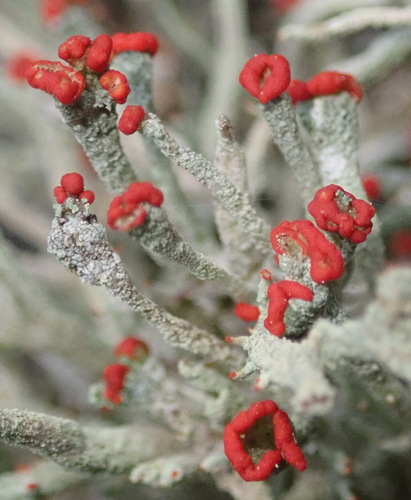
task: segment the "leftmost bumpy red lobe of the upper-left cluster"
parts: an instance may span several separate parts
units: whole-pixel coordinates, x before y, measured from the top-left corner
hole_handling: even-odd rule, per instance
[[[27,68],[26,78],[33,88],[53,95],[65,105],[77,101],[86,87],[81,73],[53,61],[36,61]]]

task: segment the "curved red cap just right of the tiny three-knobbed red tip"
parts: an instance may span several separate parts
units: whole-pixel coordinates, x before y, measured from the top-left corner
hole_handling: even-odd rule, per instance
[[[142,203],[159,207],[163,201],[163,193],[150,182],[133,182],[127,191],[111,201],[107,224],[118,231],[130,231],[146,220],[147,212]]]

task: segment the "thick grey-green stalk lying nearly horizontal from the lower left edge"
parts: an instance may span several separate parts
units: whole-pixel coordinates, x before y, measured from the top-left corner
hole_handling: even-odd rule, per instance
[[[150,445],[143,441],[150,434]],[[168,447],[178,449],[172,434],[155,427],[82,427],[73,420],[25,410],[0,410],[5,442],[50,458],[68,469],[122,474]]]

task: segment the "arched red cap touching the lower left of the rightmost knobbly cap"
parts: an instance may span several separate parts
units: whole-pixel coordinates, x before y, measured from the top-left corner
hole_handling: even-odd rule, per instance
[[[309,257],[316,283],[336,280],[344,272],[341,252],[308,220],[283,221],[271,231],[270,239],[279,255]]]

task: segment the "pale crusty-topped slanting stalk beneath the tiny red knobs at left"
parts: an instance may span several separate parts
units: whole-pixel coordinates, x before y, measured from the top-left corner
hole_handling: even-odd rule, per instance
[[[216,336],[164,311],[135,288],[106,230],[82,202],[58,206],[48,251],[82,281],[104,286],[108,293],[140,313],[172,346],[213,360],[233,358],[232,349]]]

